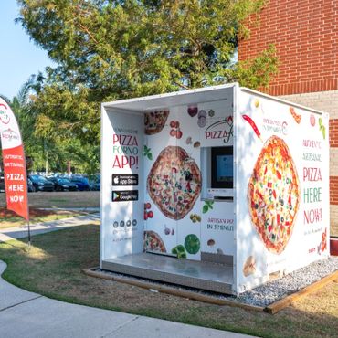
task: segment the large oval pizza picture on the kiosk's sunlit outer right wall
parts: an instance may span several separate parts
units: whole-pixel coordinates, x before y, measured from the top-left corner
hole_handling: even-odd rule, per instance
[[[280,254],[292,235],[300,205],[300,182],[287,144],[277,136],[264,144],[248,183],[248,209],[265,247]]]

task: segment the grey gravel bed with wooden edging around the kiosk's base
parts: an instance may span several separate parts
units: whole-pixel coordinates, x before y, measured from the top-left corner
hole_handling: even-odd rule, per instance
[[[308,265],[305,268],[298,269],[290,274],[280,278],[279,280],[269,281],[264,285],[261,285],[253,290],[243,292],[239,297],[220,294],[216,292],[197,290],[193,288],[187,288],[183,286],[168,284],[159,282],[156,280],[145,280],[138,277],[126,276],[120,273],[115,273],[107,270],[94,269],[97,272],[105,273],[111,277],[124,278],[128,280],[138,280],[143,282],[149,282],[151,284],[165,286],[175,290],[188,290],[198,294],[206,295],[209,297],[217,298],[220,300],[237,301],[244,304],[266,307],[269,304],[279,301],[280,299],[304,289],[308,285],[311,285],[317,280],[321,280],[323,277],[330,275],[338,269],[338,257],[331,256],[329,259],[323,259]],[[151,291],[155,291],[149,287]]]

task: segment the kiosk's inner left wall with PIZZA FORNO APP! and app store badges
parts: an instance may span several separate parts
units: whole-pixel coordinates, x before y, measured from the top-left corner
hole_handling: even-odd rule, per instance
[[[143,115],[102,114],[101,261],[143,251]]]

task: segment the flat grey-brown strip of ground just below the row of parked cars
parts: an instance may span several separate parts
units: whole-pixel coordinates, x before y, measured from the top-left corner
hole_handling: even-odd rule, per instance
[[[100,191],[28,193],[30,207],[100,207]],[[5,206],[5,194],[0,193],[0,207]]]

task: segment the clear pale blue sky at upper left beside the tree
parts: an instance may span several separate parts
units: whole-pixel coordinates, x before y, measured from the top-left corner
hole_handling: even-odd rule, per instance
[[[21,25],[15,24],[19,14],[16,0],[1,0],[0,10],[0,94],[12,100],[31,74],[53,63],[47,52],[30,40]]]

